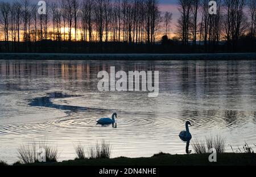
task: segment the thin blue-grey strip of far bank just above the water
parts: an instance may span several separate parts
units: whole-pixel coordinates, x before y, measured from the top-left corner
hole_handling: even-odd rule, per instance
[[[192,54],[75,54],[75,53],[0,53],[0,60],[256,60],[256,53]]]

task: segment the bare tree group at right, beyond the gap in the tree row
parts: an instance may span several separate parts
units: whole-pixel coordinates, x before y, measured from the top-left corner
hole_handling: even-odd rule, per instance
[[[179,0],[177,36],[183,44],[216,48],[225,41],[237,49],[245,37],[255,45],[256,0],[216,0],[217,14],[209,14],[208,0]],[[255,48],[254,48],[255,49]]]

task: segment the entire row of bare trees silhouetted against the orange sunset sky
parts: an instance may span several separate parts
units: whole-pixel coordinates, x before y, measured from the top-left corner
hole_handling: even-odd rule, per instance
[[[47,2],[46,14],[39,14],[29,0],[0,2],[0,51],[99,52],[122,46],[124,51],[175,52],[182,45],[206,52],[237,50],[244,43],[254,50],[256,0],[216,2],[217,14],[210,15],[208,0],[177,0],[180,18],[172,25],[172,39],[172,13],[161,12],[157,0],[59,0]],[[161,47],[156,45],[159,36]]]

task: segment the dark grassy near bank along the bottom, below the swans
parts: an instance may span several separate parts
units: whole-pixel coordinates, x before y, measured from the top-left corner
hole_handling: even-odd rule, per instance
[[[256,165],[256,154],[217,154],[217,162],[208,161],[209,154],[155,154],[149,158],[76,159],[56,163],[34,163],[49,166],[183,166],[183,165]]]

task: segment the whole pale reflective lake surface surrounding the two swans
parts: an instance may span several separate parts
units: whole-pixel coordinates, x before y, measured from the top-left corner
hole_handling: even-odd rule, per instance
[[[98,91],[98,71],[110,66],[159,71],[159,96]],[[256,61],[0,60],[0,81],[0,159],[9,163],[20,145],[40,141],[57,146],[60,161],[97,140],[110,142],[112,157],[184,154],[187,120],[192,140],[218,133],[234,149],[256,143]],[[96,125],[113,112],[117,128]]]

